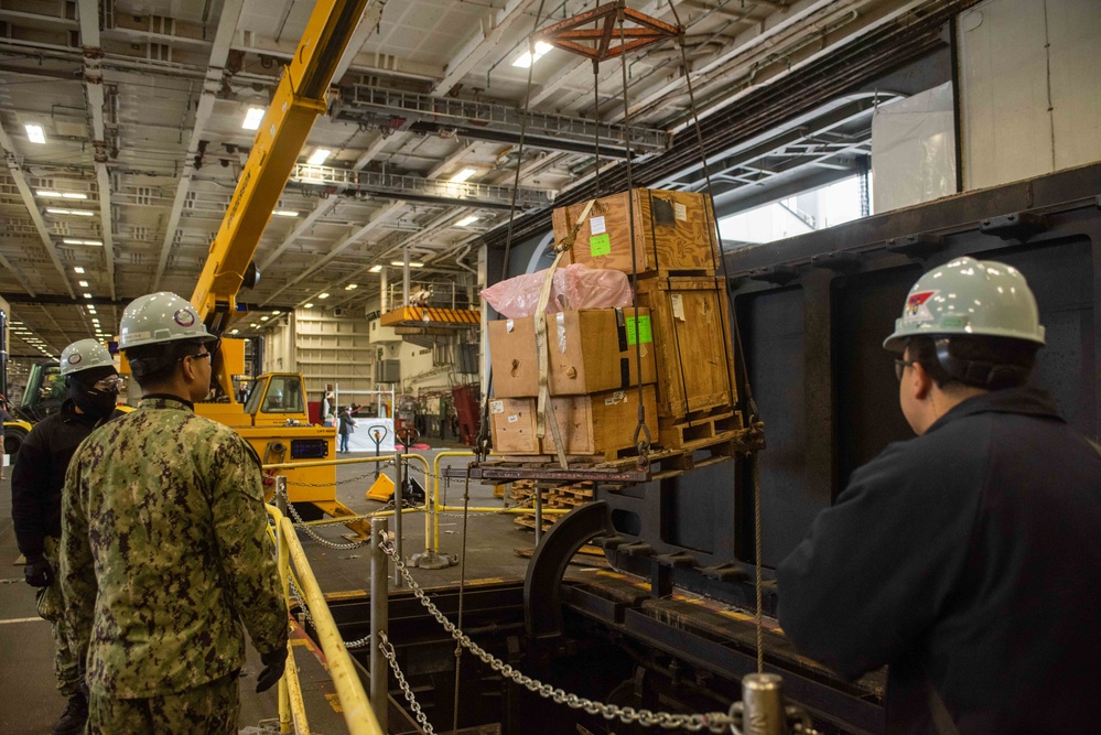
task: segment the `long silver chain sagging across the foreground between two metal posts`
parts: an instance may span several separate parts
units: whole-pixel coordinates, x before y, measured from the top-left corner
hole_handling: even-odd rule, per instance
[[[594,702],[593,700],[578,696],[576,694],[566,693],[565,690],[555,689],[550,684],[544,684],[538,679],[532,679],[526,674],[520,673],[511,667],[511,664],[505,663],[498,658],[495,658],[492,653],[484,650],[477,644],[475,644],[471,638],[460,630],[446,616],[440,612],[440,609],[428,598],[428,595],[421,590],[420,585],[413,580],[409,570],[406,568],[404,562],[398,556],[398,552],[393,544],[390,543],[385,537],[378,541],[379,549],[381,549],[387,556],[397,565],[398,570],[401,572],[401,576],[404,577],[406,584],[412,591],[413,595],[421,602],[421,605],[436,619],[444,630],[446,630],[451,637],[462,645],[464,648],[474,653],[483,663],[486,663],[494,671],[500,673],[512,682],[526,688],[530,692],[535,692],[544,699],[553,701],[555,704],[565,704],[572,710],[583,710],[587,714],[601,715],[605,720],[619,720],[625,724],[638,723],[644,727],[663,727],[666,729],[688,729],[693,733],[706,729],[712,733],[726,733],[730,732],[731,725],[734,724],[734,718],[724,712],[709,712],[706,714],[672,714],[670,712],[651,712],[650,710],[636,710],[635,707],[620,707],[616,704],[604,704],[602,702]]]

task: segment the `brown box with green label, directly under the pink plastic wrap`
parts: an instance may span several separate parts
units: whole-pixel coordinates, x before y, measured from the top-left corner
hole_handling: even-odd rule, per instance
[[[636,315],[637,311],[637,315]],[[638,328],[635,328],[636,316]],[[647,309],[582,309],[547,315],[551,396],[581,396],[656,380],[652,329]],[[635,345],[636,337],[640,342]],[[494,398],[539,393],[533,316],[489,323]],[[638,357],[641,356],[641,372]]]

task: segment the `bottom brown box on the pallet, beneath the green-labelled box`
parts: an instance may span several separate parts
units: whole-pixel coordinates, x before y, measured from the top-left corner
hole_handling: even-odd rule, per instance
[[[652,436],[657,435],[657,403],[654,386],[643,387],[643,406]],[[509,455],[553,455],[557,453],[550,415],[559,422],[563,452],[572,456],[614,455],[635,445],[638,423],[638,387],[592,396],[561,396],[550,399],[546,434],[536,437],[535,398],[498,398],[489,401],[494,452]]]

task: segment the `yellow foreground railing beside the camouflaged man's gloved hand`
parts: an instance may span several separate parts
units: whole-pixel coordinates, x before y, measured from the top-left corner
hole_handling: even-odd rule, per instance
[[[325,603],[325,596],[317,585],[317,579],[310,568],[305,551],[294,533],[294,527],[278,508],[273,506],[266,506],[266,508],[276,520],[276,528],[279,530],[276,539],[283,598],[290,605],[290,574],[293,563],[296,572],[295,579],[302,595],[305,597],[306,606],[310,608],[310,615],[317,634],[317,642],[321,644],[321,649],[325,653],[348,732],[353,735],[385,735],[370,709],[363,682],[359,681],[352,657],[348,655],[347,648],[344,647],[344,640],[336,627],[336,621],[333,620],[333,614]],[[288,647],[287,670],[279,682],[279,731],[281,733],[292,732],[291,726],[293,725],[293,732],[305,734],[310,732],[310,726],[306,722],[302,688],[299,684],[298,671],[294,668],[294,647],[290,644]]]

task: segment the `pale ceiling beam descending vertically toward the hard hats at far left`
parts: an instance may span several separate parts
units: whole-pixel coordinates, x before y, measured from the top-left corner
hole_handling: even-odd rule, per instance
[[[99,226],[107,266],[107,289],[115,298],[115,233],[111,227],[111,179],[107,172],[107,134],[104,125],[104,51],[99,43],[99,0],[79,0],[80,44],[84,46],[84,91],[91,116],[91,144],[95,148],[96,184],[99,188]]]

